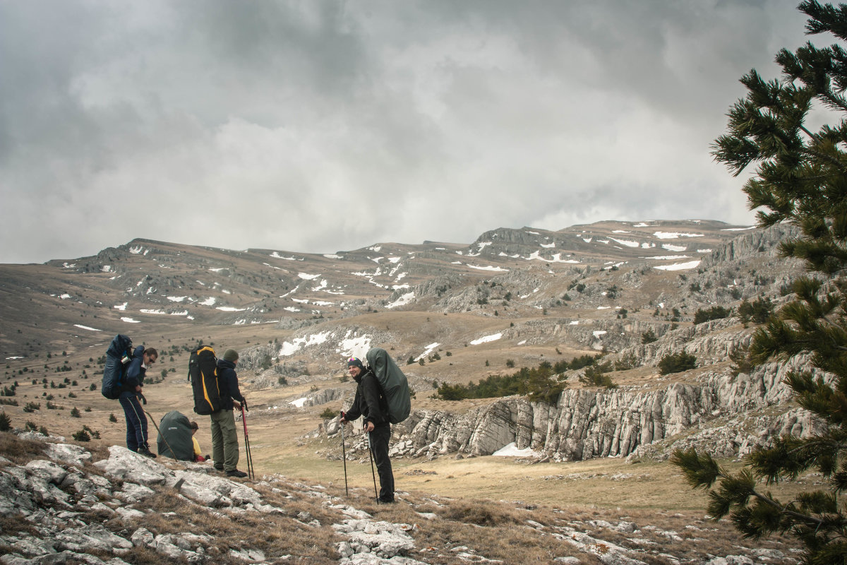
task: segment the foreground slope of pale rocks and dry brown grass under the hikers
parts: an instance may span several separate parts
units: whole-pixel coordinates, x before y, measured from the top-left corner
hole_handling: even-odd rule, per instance
[[[61,438],[0,434],[0,562],[781,565],[784,540],[728,542],[725,525],[677,514],[600,518],[590,509],[360,490],[280,475],[228,479],[204,463],[89,451]],[[8,457],[8,458],[7,458]]]

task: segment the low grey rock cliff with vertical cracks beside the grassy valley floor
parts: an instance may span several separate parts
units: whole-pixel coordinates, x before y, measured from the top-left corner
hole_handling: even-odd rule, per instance
[[[509,397],[461,415],[416,411],[396,426],[396,453],[490,455],[513,442],[555,461],[666,458],[692,445],[721,456],[744,455],[784,433],[805,437],[820,430],[811,414],[791,406],[782,384],[800,364],[770,363],[735,377],[707,373],[699,385],[650,391],[566,390],[555,406]]]

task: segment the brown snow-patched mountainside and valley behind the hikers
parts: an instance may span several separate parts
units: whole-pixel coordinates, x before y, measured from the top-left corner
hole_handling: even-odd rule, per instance
[[[158,347],[161,372],[148,374],[145,386],[154,421],[163,410],[191,414],[185,372],[193,347],[232,347],[241,354],[257,470],[337,484],[335,414],[354,391],[344,359],[379,345],[415,391],[412,417],[391,441],[399,488],[573,501],[585,484],[574,491],[566,478],[579,473],[563,469],[592,457],[600,469],[650,469],[598,472],[590,504],[603,515],[609,507],[631,512],[644,496],[639,482],[652,480],[659,490],[680,481],[674,504],[701,509],[700,495],[684,492],[678,473],[657,463],[668,450],[697,446],[734,458],[817,425],[779,385],[803,359],[738,371],[730,354],[755,327],[731,316],[695,324],[696,313],[715,306],[732,313],[745,300],[789,300],[802,264],[779,258],[777,246],[794,232],[601,224],[563,235],[499,228],[469,245],[382,243],[320,255],[133,240],[76,261],[0,265],[0,410],[19,430],[71,432],[84,423],[97,449],[120,446],[115,404],[97,386],[112,335]],[[662,357],[678,352],[695,356],[695,368],[661,374]],[[433,394],[444,384],[598,355],[616,389],[583,382],[583,368],[556,374],[564,391],[554,403]],[[68,417],[71,407],[80,420]],[[512,443],[534,454],[492,462]],[[352,469],[367,470],[365,446],[358,429],[347,435]],[[370,476],[357,475],[367,490]]]

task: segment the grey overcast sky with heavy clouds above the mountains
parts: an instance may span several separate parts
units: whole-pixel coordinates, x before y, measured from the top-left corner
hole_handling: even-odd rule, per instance
[[[710,144],[797,3],[0,0],[0,263],[750,224]]]

